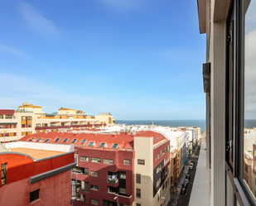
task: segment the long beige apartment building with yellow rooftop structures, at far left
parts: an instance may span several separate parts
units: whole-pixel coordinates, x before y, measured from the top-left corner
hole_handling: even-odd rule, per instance
[[[57,114],[46,114],[41,106],[23,103],[17,110],[0,109],[0,142],[17,141],[37,132],[114,126],[110,113],[87,115],[81,110],[60,108]]]

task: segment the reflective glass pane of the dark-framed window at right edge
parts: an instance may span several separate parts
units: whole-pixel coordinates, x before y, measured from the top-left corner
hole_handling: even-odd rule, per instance
[[[244,167],[256,197],[256,0],[244,0]],[[254,79],[255,78],[255,79]]]

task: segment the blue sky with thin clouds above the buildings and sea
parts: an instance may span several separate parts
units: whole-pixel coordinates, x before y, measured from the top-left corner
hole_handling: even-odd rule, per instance
[[[0,108],[205,118],[196,0],[1,0],[0,27]]]

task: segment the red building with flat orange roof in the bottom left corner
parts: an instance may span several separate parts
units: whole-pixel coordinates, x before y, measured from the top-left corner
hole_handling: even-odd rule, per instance
[[[5,147],[6,146],[6,147]],[[72,145],[0,144],[0,205],[71,205]]]

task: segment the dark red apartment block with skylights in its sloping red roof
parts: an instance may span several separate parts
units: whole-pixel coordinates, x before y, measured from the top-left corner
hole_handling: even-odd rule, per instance
[[[75,205],[118,201],[119,205],[160,206],[170,200],[170,141],[159,132],[41,132],[21,141],[75,145]]]

